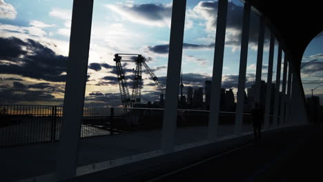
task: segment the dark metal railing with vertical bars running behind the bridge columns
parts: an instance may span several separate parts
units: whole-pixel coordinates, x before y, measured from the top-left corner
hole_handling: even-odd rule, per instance
[[[164,109],[85,107],[80,137],[162,128]],[[177,127],[208,125],[208,110],[178,110]],[[0,147],[59,140],[63,106],[0,105]],[[244,113],[244,123],[251,115]],[[219,124],[235,123],[235,112],[219,112]]]

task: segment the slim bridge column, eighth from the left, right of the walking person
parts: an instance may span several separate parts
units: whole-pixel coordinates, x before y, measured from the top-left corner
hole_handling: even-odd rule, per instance
[[[282,101],[280,101],[280,123],[285,125],[286,110],[286,77],[287,77],[287,54],[284,54],[284,70],[282,79]]]

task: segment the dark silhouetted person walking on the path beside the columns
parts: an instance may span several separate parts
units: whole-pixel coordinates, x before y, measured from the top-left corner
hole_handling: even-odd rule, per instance
[[[259,104],[255,103],[255,108],[251,110],[251,116],[253,117],[253,133],[255,134],[255,143],[260,143],[262,137],[262,110],[259,108]]]

